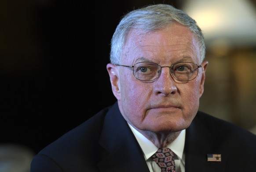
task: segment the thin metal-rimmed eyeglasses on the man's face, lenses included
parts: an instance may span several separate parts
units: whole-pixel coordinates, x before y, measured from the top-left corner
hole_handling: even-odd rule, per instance
[[[125,66],[116,64],[117,66],[122,67],[132,67],[133,75],[140,81],[153,81],[160,76],[162,67],[169,66],[160,66],[157,63],[153,62],[139,62],[134,66]],[[201,65],[197,65],[191,62],[181,62],[175,63],[170,66],[170,74],[178,80],[178,81],[191,81],[197,77],[198,68],[202,67]]]

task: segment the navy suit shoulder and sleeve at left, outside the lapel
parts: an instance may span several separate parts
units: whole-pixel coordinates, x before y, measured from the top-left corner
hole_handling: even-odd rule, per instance
[[[88,154],[95,154],[95,150],[105,152],[99,146],[99,139],[107,116],[112,115],[116,108],[111,106],[102,109],[97,114],[68,131],[48,146],[44,147],[33,160],[33,166],[57,164],[65,169],[73,167],[89,168],[84,162],[91,161]],[[37,167],[35,167],[37,168]],[[67,170],[68,171],[68,170]]]

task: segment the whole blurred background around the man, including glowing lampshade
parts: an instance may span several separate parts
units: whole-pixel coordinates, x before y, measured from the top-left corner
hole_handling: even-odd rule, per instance
[[[163,2],[205,34],[200,110],[256,133],[256,0],[1,0],[0,146],[35,154],[115,102],[106,71],[115,27]]]

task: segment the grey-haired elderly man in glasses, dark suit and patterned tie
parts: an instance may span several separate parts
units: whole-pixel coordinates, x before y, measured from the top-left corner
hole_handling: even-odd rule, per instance
[[[129,12],[106,66],[117,102],[40,151],[31,172],[256,172],[256,136],[198,111],[204,58],[183,11]]]

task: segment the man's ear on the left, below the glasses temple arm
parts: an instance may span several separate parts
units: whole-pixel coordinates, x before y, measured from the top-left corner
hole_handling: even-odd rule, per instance
[[[106,65],[106,69],[110,75],[110,83],[114,96],[119,100],[120,96],[120,85],[119,85],[119,73],[117,70],[117,66],[111,63]]]

